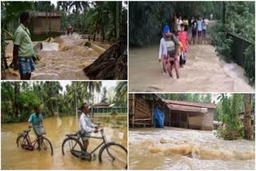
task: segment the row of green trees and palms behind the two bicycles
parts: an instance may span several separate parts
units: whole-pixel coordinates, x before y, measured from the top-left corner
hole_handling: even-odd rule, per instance
[[[2,122],[27,121],[35,105],[40,105],[45,117],[55,114],[74,114],[84,101],[93,105],[102,101],[126,105],[127,84],[118,82],[117,91],[106,96],[109,89],[104,90],[102,82],[72,82],[66,90],[60,82],[2,82],[1,86],[1,118]],[[120,90],[118,90],[120,89]]]

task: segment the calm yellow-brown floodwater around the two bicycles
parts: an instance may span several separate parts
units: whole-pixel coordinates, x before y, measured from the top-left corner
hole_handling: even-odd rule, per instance
[[[126,115],[110,117],[94,117],[95,122],[101,122],[107,141],[115,141],[127,149],[127,120]],[[1,158],[2,169],[120,169],[111,162],[98,161],[98,150],[96,160],[84,161],[70,155],[62,155],[62,141],[68,133],[76,133],[78,118],[75,116],[48,117],[44,119],[46,137],[54,148],[54,155],[51,157],[38,150],[27,151],[16,145],[18,133],[27,128],[27,123],[2,124],[1,131]],[[33,131],[32,131],[33,132]],[[30,133],[34,140],[34,133]],[[100,133],[93,133],[100,136]],[[94,149],[102,140],[90,139],[88,151]]]

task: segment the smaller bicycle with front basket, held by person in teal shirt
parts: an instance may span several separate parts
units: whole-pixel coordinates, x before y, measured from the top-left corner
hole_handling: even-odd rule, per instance
[[[18,133],[18,137],[16,140],[17,147],[20,146],[22,149],[26,149],[30,151],[33,151],[34,149],[36,149],[35,147],[38,147],[37,149],[39,151],[42,150],[43,152],[46,152],[46,153],[48,152],[52,156],[54,153],[54,150],[50,141],[42,135],[38,135],[34,141],[31,141],[30,135],[29,135],[30,131],[31,131],[30,129],[26,129],[22,133]]]

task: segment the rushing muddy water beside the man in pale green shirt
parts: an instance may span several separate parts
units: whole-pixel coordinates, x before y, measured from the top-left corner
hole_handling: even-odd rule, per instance
[[[80,35],[62,35],[42,42],[42,50],[38,52],[39,61],[31,75],[32,80],[87,80],[82,71],[86,66],[94,62],[105,49],[90,48],[86,46],[86,39]],[[37,42],[34,42],[36,44]],[[108,45],[105,43],[105,47]],[[109,45],[110,46],[110,45]],[[13,44],[6,48],[8,62],[12,61]],[[5,79],[19,79],[18,72],[5,71]]]

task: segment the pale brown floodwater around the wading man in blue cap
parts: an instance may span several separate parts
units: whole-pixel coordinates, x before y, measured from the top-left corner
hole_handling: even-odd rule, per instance
[[[180,78],[164,75],[158,62],[159,46],[129,51],[129,88],[131,91],[172,92],[254,92],[242,67],[223,62],[214,46],[189,46],[186,66]]]

